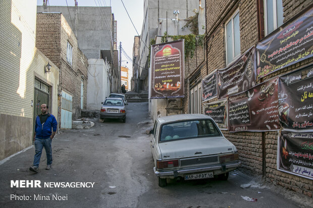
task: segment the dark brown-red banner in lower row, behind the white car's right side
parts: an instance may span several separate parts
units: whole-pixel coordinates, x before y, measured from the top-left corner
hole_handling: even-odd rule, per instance
[[[278,78],[228,98],[228,130],[272,131],[278,120]]]

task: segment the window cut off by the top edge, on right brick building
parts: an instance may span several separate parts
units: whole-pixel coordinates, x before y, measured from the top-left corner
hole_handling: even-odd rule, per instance
[[[264,30],[270,34],[283,24],[283,1],[264,0]]]

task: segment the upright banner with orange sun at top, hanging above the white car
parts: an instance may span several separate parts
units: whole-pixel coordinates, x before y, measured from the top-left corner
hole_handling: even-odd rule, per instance
[[[184,97],[184,40],[151,45],[151,96]]]

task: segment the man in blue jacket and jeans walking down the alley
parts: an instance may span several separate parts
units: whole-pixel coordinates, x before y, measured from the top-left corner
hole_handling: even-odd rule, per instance
[[[46,104],[41,105],[41,114],[36,117],[34,141],[35,141],[35,156],[34,163],[29,170],[38,173],[38,166],[42,149],[44,147],[47,155],[47,166],[46,170],[52,168],[52,139],[54,138],[57,131],[57,119],[54,115],[48,113],[48,106]],[[52,128],[52,131],[51,131]]]

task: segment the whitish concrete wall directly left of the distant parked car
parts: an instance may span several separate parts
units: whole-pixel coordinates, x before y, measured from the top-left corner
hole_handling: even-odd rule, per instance
[[[91,76],[88,77],[87,87],[87,109],[100,110],[106,97],[110,95],[109,63],[103,59],[89,59],[88,71]]]

